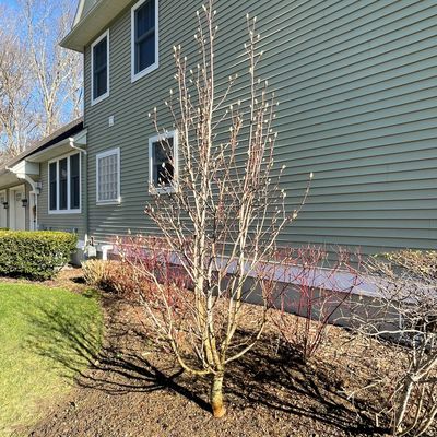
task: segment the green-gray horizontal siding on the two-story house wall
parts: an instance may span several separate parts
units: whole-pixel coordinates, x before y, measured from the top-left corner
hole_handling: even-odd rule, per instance
[[[134,2],[132,2],[134,4]],[[147,114],[174,82],[173,46],[193,54],[201,2],[160,1],[160,68],[135,83],[130,7],[110,24],[110,95],[91,106],[85,50],[90,234],[155,233],[147,203]],[[246,13],[258,16],[260,75],[280,101],[275,160],[293,209],[309,199],[282,244],[362,246],[366,252],[435,248],[437,238],[437,3],[434,0],[248,0],[217,2],[218,82],[246,68]],[[91,44],[92,42],[90,42]],[[236,86],[238,90],[240,85]],[[234,94],[236,96],[237,94]],[[115,126],[108,128],[108,117]],[[97,206],[95,155],[120,147],[119,205]],[[44,180],[44,178],[43,178]]]

